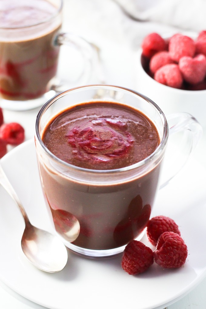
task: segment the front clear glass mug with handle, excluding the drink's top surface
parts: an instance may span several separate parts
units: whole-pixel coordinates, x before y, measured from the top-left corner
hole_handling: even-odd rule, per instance
[[[58,159],[42,141],[44,129],[61,111],[85,102],[115,102],[141,111],[155,125],[159,146],[146,159],[113,170],[86,169]],[[183,163],[201,133],[190,114],[174,114],[170,121],[169,128],[162,110],[144,95],[109,85],[64,91],[41,108],[35,130],[40,178],[49,216],[68,248],[85,256],[105,257],[122,252],[130,240],[142,238],[160,185],[169,132],[190,133]]]

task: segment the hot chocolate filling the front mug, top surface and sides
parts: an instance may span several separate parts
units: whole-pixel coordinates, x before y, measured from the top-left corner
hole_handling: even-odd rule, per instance
[[[68,108],[46,125],[42,140],[59,159],[102,171],[131,166],[160,143],[155,125],[143,113],[113,102]],[[66,230],[75,216],[80,234],[73,244],[81,248],[117,248],[136,238],[149,220],[160,166],[111,184],[75,180],[40,164],[44,196],[57,232]]]

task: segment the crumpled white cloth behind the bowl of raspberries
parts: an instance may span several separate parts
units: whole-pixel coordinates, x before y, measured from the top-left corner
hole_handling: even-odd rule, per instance
[[[132,18],[185,30],[206,30],[206,0],[114,0]]]

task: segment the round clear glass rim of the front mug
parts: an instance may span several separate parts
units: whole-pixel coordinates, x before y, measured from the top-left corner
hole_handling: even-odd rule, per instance
[[[117,168],[117,169],[109,169],[109,170],[94,170],[94,169],[89,169],[89,168],[84,168],[84,167],[78,167],[75,166],[73,164],[67,163],[61,159],[59,159],[57,156],[55,156],[50,150],[48,150],[48,148],[44,145],[41,136],[40,136],[40,132],[39,132],[39,125],[40,125],[40,120],[41,120],[41,116],[44,114],[44,112],[47,110],[47,108],[49,108],[53,103],[55,103],[58,99],[60,99],[61,97],[67,95],[68,93],[72,92],[72,91],[78,91],[80,89],[86,89],[86,88],[116,88],[119,90],[124,90],[124,91],[128,91],[131,92],[139,97],[141,97],[142,99],[145,99],[149,104],[153,105],[156,110],[158,111],[158,115],[161,116],[162,118],[162,124],[163,124],[163,135],[162,135],[162,140],[160,141],[158,147],[153,151],[153,153],[151,155],[149,155],[148,157],[146,157],[145,159],[134,163],[132,165],[126,166],[126,167],[121,167],[121,168]],[[138,91],[126,88],[126,87],[121,87],[121,86],[113,86],[113,85],[106,85],[106,84],[95,84],[95,85],[86,85],[86,86],[80,86],[80,87],[75,87],[66,91],[63,91],[61,93],[58,93],[57,95],[55,95],[53,98],[49,99],[40,109],[40,111],[38,112],[37,116],[36,116],[36,123],[35,123],[35,135],[37,137],[38,142],[40,143],[40,146],[43,148],[43,150],[46,152],[47,155],[49,155],[49,157],[51,157],[53,160],[57,161],[58,163],[61,163],[63,166],[65,167],[69,167],[70,169],[74,169],[77,171],[82,171],[82,172],[87,172],[87,173],[93,173],[93,174],[111,174],[111,173],[117,173],[117,172],[125,172],[125,171],[129,171],[129,170],[133,170],[135,168],[141,167],[143,165],[147,165],[147,163],[150,163],[152,160],[155,160],[162,152],[162,150],[164,149],[164,147],[166,146],[166,142],[168,139],[168,135],[169,135],[169,128],[168,128],[168,123],[166,121],[166,117],[164,115],[164,113],[162,112],[162,109],[159,108],[159,106],[154,103],[151,99],[149,99],[148,97],[146,97],[145,95],[141,94]]]

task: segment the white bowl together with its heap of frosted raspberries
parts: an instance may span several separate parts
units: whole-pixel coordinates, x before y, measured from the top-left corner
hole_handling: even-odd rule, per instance
[[[206,30],[163,37],[150,33],[137,59],[137,91],[167,115],[189,112],[206,125]]]

